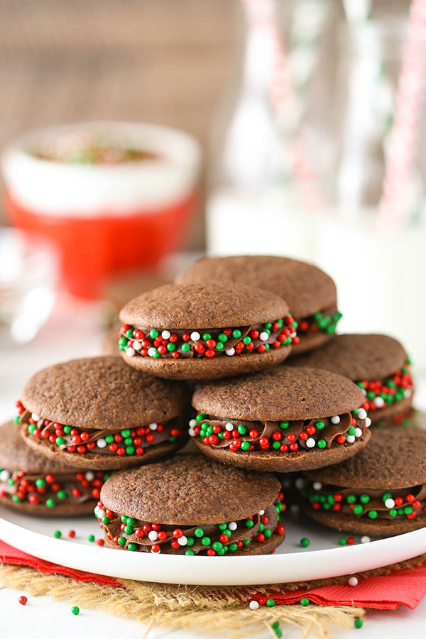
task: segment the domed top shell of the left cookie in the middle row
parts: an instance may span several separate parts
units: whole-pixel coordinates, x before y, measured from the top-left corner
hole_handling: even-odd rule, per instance
[[[72,359],[26,383],[21,401],[45,419],[95,429],[136,428],[182,413],[186,387],[127,366],[121,357]]]

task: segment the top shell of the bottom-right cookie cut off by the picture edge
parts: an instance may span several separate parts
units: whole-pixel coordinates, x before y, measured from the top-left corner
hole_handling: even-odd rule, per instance
[[[309,479],[347,488],[406,488],[426,484],[426,430],[389,426],[342,464],[306,473]]]

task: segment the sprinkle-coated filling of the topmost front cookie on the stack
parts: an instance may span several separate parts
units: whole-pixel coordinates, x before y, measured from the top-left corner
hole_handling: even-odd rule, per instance
[[[298,344],[297,322],[289,314],[273,322],[249,327],[224,329],[162,330],[123,324],[119,348],[126,356],[154,359],[212,358],[235,356],[251,352],[266,353],[269,349]]]

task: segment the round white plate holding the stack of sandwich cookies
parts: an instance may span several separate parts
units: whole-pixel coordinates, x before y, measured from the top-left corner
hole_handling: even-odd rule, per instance
[[[148,552],[119,552],[89,542],[102,531],[94,517],[31,518],[0,508],[0,538],[19,550],[70,568],[167,584],[210,586],[278,584],[336,577],[393,564],[426,552],[426,528],[397,537],[339,545],[339,533],[304,518],[288,516],[285,542],[274,555],[255,557],[173,557]],[[67,536],[68,530],[76,536]],[[62,538],[53,537],[60,530]],[[300,547],[309,537],[310,546]]]

